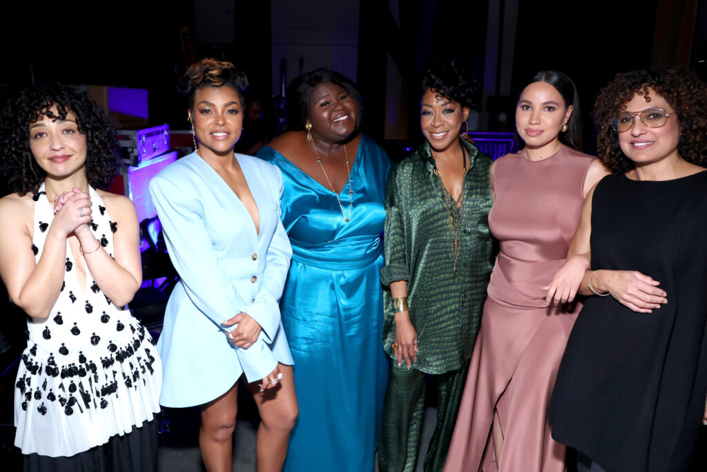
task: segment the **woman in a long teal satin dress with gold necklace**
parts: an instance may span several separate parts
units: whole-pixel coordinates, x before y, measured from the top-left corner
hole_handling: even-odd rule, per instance
[[[289,132],[257,156],[282,171],[292,267],[282,318],[300,415],[286,471],[373,471],[387,362],[380,349],[383,192],[390,160],[361,134],[361,96],[317,69],[288,87]]]

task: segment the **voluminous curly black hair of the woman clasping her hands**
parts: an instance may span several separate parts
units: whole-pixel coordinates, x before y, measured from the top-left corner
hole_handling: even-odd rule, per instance
[[[86,135],[88,183],[110,186],[119,170],[112,120],[86,93],[54,84],[21,89],[0,114],[0,164],[12,192],[35,192],[46,177],[30,151],[30,125],[42,117],[65,120],[67,113],[74,113],[78,132]]]

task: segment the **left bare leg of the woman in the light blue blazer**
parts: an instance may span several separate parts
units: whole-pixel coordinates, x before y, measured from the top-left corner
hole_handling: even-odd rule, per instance
[[[230,472],[233,460],[233,430],[238,413],[238,384],[201,409],[199,447],[209,472]]]

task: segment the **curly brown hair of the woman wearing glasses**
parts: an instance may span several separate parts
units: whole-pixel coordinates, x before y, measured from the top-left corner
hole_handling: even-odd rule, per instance
[[[619,134],[612,128],[612,118],[626,109],[634,96],[650,101],[652,89],[665,98],[680,121],[677,151],[682,159],[706,166],[707,163],[707,85],[691,71],[679,69],[641,69],[617,74],[602,88],[594,104],[597,126],[597,153],[613,172],[634,168],[619,146]]]

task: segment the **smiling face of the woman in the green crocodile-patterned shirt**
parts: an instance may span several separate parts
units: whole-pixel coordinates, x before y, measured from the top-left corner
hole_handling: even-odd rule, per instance
[[[435,151],[445,151],[459,141],[462,123],[469,117],[469,107],[450,100],[430,88],[420,103],[420,127],[427,142]]]

